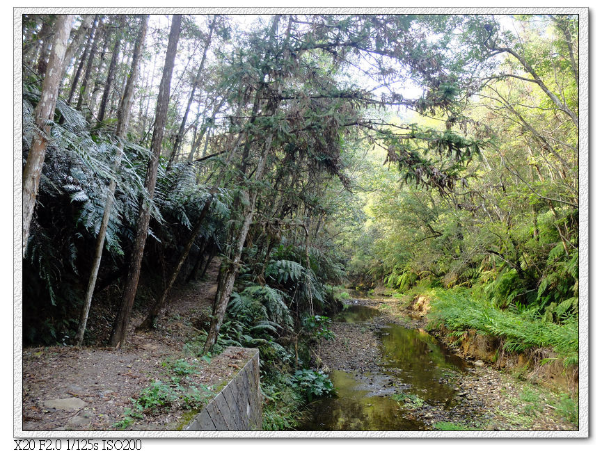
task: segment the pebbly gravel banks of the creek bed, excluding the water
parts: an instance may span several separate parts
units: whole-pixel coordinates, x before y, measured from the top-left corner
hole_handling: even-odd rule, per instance
[[[354,300],[379,309],[367,323],[333,323],[335,341],[322,341],[320,357],[326,370],[373,372],[381,354],[375,331],[396,323],[406,328],[426,328],[425,318],[404,309],[399,300]],[[459,354],[459,350],[454,350]],[[445,383],[456,389],[451,408],[411,408],[410,416],[433,429],[443,430],[576,430],[562,395],[520,380],[468,357],[466,372],[446,374]],[[407,406],[406,406],[407,408]],[[567,419],[569,418],[569,419]]]

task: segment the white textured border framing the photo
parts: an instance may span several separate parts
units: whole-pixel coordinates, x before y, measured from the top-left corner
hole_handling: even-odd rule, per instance
[[[579,15],[579,428],[573,431],[31,431],[22,429],[22,15],[23,14],[573,14]],[[506,8],[13,8],[13,435],[15,438],[587,438],[589,437],[589,10]]]

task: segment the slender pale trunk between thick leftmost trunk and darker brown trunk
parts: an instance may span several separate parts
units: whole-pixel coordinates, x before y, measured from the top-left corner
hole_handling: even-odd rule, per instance
[[[132,111],[132,99],[134,97],[134,88],[136,86],[136,80],[138,79],[138,72],[140,72],[140,61],[142,51],[144,47],[144,40],[146,38],[146,31],[148,29],[148,15],[142,17],[142,23],[140,31],[138,32],[138,38],[136,38],[136,45],[134,46],[134,55],[132,56],[132,70],[129,73],[125,90],[123,91],[123,97],[119,104],[117,111],[117,131],[116,138],[119,140],[118,154],[116,161],[113,163],[113,170],[117,171],[121,166],[121,157],[123,150],[123,140],[127,132],[127,126],[129,124],[129,118]],[[106,236],[106,228],[109,225],[109,217],[111,216],[111,208],[113,207],[113,196],[115,195],[115,189],[117,182],[115,179],[111,179],[109,184],[109,193],[106,195],[106,204],[104,205],[104,213],[102,215],[102,223],[100,224],[100,231],[96,239],[96,250],[93,260],[92,271],[90,272],[90,278],[88,279],[88,288],[86,289],[86,296],[84,297],[84,305],[81,308],[81,316],[79,317],[79,328],[77,329],[77,337],[75,339],[76,344],[81,346],[84,341],[84,332],[86,332],[86,323],[88,323],[88,313],[90,312],[90,305],[92,304],[92,296],[94,294],[94,288],[96,286],[96,278],[98,276],[98,269],[100,268],[100,261],[102,259],[102,250],[104,249],[104,238]]]

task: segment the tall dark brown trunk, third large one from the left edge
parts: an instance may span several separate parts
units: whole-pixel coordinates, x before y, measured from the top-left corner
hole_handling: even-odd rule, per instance
[[[155,130],[152,132],[151,156],[146,172],[146,189],[148,196],[152,201],[155,194],[155,185],[157,184],[157,168],[159,166],[159,156],[161,155],[161,142],[163,141],[164,127],[167,119],[167,110],[169,104],[169,89],[171,86],[171,75],[175,63],[175,54],[177,51],[177,41],[180,38],[180,25],[182,15],[173,15],[171,22],[171,31],[169,32],[169,41],[167,45],[167,54],[159,85],[159,97],[157,98],[157,113],[155,115]],[[136,225],[136,239],[134,240],[134,250],[132,251],[132,261],[129,264],[127,281],[123,289],[119,312],[113,326],[113,333],[109,344],[113,347],[122,346],[127,334],[127,325],[129,316],[132,314],[134,306],[134,297],[138,288],[138,279],[140,278],[140,268],[142,265],[142,256],[146,236],[148,235],[148,223],[150,221],[150,205],[142,202],[138,222]]]

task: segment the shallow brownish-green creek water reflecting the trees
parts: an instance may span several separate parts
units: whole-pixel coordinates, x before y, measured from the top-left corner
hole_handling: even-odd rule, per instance
[[[334,320],[364,323],[378,314],[378,309],[350,305]],[[337,396],[313,403],[300,430],[425,430],[425,423],[391,398],[396,393],[418,396],[443,410],[452,405],[455,391],[446,371],[463,371],[464,360],[424,330],[388,323],[375,333],[383,358],[380,372],[331,371]]]

